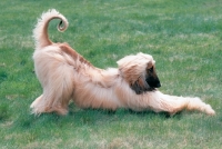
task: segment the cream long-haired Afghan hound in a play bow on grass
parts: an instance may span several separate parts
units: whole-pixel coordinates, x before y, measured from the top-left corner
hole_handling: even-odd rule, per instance
[[[70,101],[80,108],[127,108],[152,110],[171,116],[182,110],[196,110],[213,116],[215,111],[200,98],[176,97],[160,92],[161,87],[152,56],[138,53],[120,59],[118,68],[99,69],[68,43],[54,43],[48,37],[48,26],[59,19],[59,31],[68,20],[57,10],[43,12],[33,30],[34,71],[43,93],[30,106],[32,113],[67,115]]]

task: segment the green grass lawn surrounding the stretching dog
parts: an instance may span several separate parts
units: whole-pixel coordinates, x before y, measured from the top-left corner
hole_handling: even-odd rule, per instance
[[[64,33],[50,23],[53,41],[68,42],[99,68],[137,52],[152,54],[160,90],[198,96],[216,116],[183,111],[82,110],[34,117],[42,92],[33,72],[32,29],[56,8],[69,20]],[[222,147],[222,1],[220,0],[6,0],[0,4],[0,148]]]

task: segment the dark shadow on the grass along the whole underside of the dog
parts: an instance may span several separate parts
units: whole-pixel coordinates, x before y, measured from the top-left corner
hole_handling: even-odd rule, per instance
[[[123,121],[130,122],[133,120],[145,120],[150,119],[181,119],[181,112],[170,116],[168,112],[155,113],[153,111],[133,111],[129,109],[118,109],[117,111],[102,110],[102,109],[81,109],[75,107],[73,103],[69,106],[69,112],[65,116],[59,116],[57,113],[42,113],[40,116],[27,115],[21,117],[14,123],[16,127],[23,129],[31,129],[36,126],[51,126],[64,127],[69,123],[74,123],[75,127],[93,126],[93,125],[109,125],[111,122]]]

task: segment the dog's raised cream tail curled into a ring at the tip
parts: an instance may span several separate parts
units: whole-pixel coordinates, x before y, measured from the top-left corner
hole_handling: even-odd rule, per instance
[[[36,40],[36,49],[41,49],[47,46],[52,44],[52,41],[49,39],[48,36],[48,26],[49,22],[53,19],[60,19],[60,23],[58,24],[57,29],[63,32],[68,26],[68,20],[56,9],[50,9],[48,12],[42,13],[41,18],[38,19],[38,23],[33,30],[33,38]]]

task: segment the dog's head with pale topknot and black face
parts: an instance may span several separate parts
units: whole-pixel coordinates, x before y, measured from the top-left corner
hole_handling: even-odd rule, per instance
[[[138,95],[161,87],[154,64],[152,56],[142,52],[118,61],[121,74]]]

